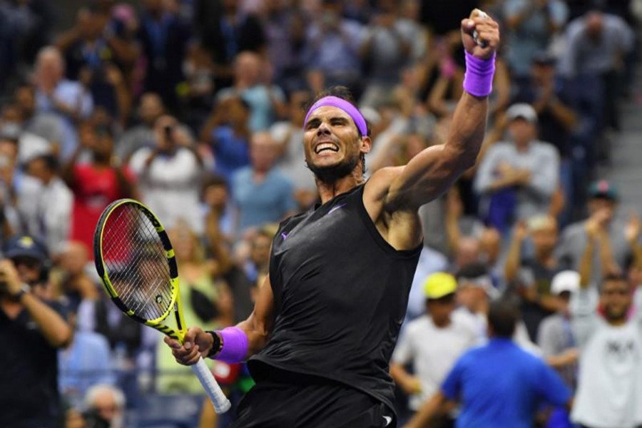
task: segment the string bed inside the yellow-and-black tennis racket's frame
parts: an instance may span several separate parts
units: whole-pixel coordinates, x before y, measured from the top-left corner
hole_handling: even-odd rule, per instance
[[[122,205],[103,231],[103,260],[123,304],[138,317],[156,320],[172,301],[170,273],[163,243],[138,208]]]

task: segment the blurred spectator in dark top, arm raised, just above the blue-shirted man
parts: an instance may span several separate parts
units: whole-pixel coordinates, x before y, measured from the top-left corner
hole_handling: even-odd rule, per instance
[[[551,295],[551,281],[562,270],[555,256],[557,240],[554,218],[548,215],[529,218],[515,225],[506,255],[506,282],[514,286],[522,299],[521,316],[531,340],[537,337],[541,320],[559,309],[559,299]],[[529,243],[532,253],[524,255],[525,244]]]

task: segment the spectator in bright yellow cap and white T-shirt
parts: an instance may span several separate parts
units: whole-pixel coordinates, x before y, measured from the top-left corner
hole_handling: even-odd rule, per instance
[[[451,319],[456,291],[457,280],[448,273],[427,277],[426,313],[407,325],[392,354],[390,374],[410,395],[413,412],[437,392],[459,355],[477,342],[477,332],[470,325]],[[411,363],[413,374],[404,369]]]

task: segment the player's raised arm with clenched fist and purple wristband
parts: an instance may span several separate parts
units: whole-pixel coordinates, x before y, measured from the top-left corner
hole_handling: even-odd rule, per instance
[[[477,31],[485,47],[475,43],[473,31]],[[425,149],[402,167],[389,186],[384,201],[387,210],[416,209],[430,202],[477,160],[486,130],[494,54],[499,46],[498,25],[474,12],[474,18],[462,20],[462,41],[468,71],[447,143]]]

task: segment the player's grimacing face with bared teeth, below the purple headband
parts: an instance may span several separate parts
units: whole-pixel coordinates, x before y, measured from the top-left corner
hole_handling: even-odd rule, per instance
[[[305,161],[325,181],[350,175],[362,153],[370,151],[370,138],[361,138],[348,113],[340,108],[317,108],[305,125]]]

